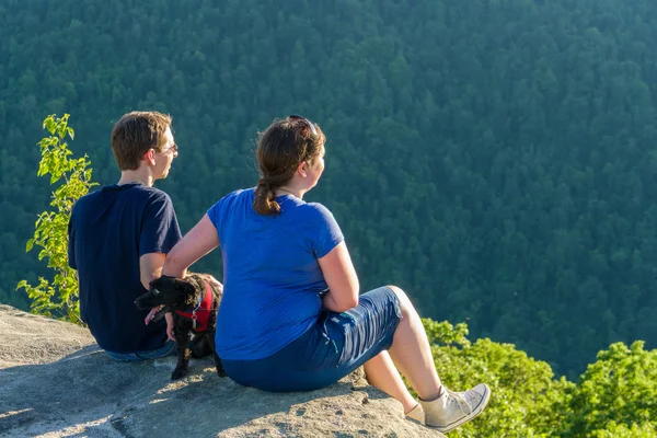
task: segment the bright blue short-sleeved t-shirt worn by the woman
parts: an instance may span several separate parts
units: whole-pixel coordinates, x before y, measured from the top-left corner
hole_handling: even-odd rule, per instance
[[[229,360],[272,356],[316,322],[327,290],[318,258],[344,240],[321,204],[279,196],[281,212],[264,216],[253,196],[237,191],[208,210],[223,258],[217,354]]]

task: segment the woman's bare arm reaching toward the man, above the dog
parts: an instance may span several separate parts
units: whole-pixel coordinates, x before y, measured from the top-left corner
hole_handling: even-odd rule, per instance
[[[206,214],[166,254],[162,275],[184,278],[189,266],[217,246],[219,234]]]

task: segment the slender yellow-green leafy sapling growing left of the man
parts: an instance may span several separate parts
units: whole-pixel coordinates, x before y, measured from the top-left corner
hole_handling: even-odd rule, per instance
[[[78,277],[68,266],[68,222],[76,200],[97,184],[91,182],[91,162],[87,154],[79,159],[69,158],[72,152],[65,140],[67,136],[72,140],[74,132],[68,126],[68,114],[62,117],[49,115],[44,120],[44,129],[50,135],[38,142],[42,159],[37,175],[50,174],[50,185],[62,177],[64,183],[51,195],[50,206],[54,207],[54,211],[38,215],[34,238],[27,241],[25,247],[25,251],[31,251],[34,245],[42,247],[38,260],[47,260],[48,267],[55,270],[55,278],[50,283],[39,277],[37,286],[21,280],[16,290],[25,289],[32,299],[33,313],[81,324]]]

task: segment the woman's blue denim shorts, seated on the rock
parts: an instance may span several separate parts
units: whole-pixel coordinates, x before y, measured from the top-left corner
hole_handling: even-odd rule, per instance
[[[390,348],[402,319],[397,296],[381,287],[364,293],[343,313],[323,311],[312,327],[274,355],[224,360],[235,382],[263,391],[312,391],[335,383]]]

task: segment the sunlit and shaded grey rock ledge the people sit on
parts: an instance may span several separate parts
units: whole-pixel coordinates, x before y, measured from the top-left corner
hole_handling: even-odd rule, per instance
[[[362,371],[273,394],[219,378],[210,359],[172,382],[174,366],[115,362],[85,328],[0,304],[0,437],[442,437]]]

